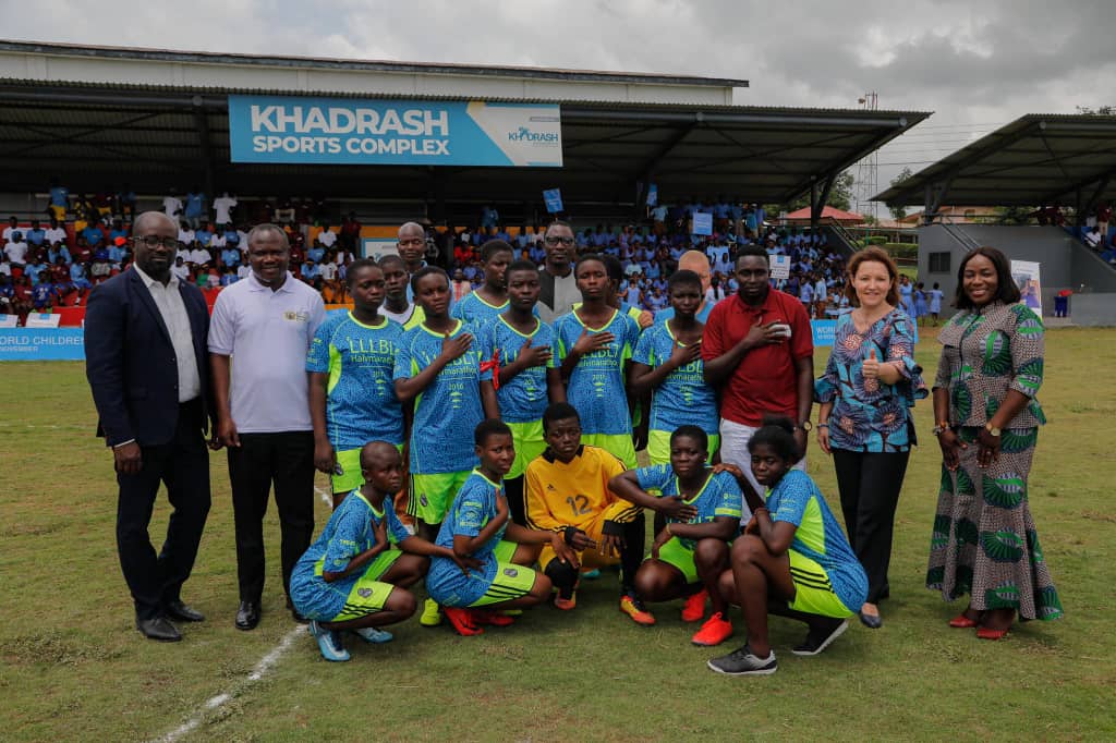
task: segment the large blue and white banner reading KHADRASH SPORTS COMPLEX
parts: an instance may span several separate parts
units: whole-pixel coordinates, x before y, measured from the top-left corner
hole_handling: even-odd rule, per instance
[[[561,167],[556,105],[229,96],[234,163]]]

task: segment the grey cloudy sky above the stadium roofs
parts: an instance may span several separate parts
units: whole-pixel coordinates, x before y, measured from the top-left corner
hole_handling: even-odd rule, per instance
[[[96,11],[94,11],[96,8]],[[1116,104],[1112,0],[0,0],[0,38],[748,79],[738,104],[934,116],[881,190],[1024,113]]]

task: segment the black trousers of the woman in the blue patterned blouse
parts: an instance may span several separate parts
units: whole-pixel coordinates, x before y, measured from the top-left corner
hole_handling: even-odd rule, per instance
[[[868,573],[868,604],[878,604],[891,595],[887,569],[892,562],[895,508],[910,457],[911,452],[834,450],[848,541]]]

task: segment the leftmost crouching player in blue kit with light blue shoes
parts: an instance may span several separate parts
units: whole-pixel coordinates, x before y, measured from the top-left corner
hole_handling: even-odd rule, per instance
[[[415,597],[406,587],[422,579],[431,557],[444,558],[459,572],[479,566],[413,535],[395,515],[391,493],[402,484],[403,462],[394,444],[365,445],[360,469],[365,484],[341,501],[290,577],[291,601],[310,619],[326,660],[349,659],[344,630],[368,643],[391,640],[377,627],[415,612]]]

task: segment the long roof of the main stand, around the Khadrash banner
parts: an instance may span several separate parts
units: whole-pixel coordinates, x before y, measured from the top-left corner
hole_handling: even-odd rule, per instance
[[[145,60],[144,55],[156,60]],[[115,65],[125,65],[127,71]],[[180,70],[176,79],[194,83],[160,85],[153,80],[163,79],[163,74],[151,71],[158,65],[201,65],[212,70],[205,80],[198,78],[201,73],[191,77]],[[252,65],[268,75],[241,74]],[[305,65],[344,66],[356,77],[307,84]],[[374,74],[354,71],[369,65],[377,68]],[[94,71],[86,73],[87,66]],[[289,66],[300,66],[298,74],[289,74]],[[386,67],[393,70],[381,69]],[[276,69],[271,75],[269,70]],[[430,81],[443,74],[453,79]],[[392,87],[401,75],[410,86],[405,93],[398,85]],[[496,85],[489,76],[502,78]],[[549,76],[549,87],[540,91],[531,87],[535,83],[518,79],[522,76]],[[517,79],[508,87],[510,78]],[[724,90],[731,93],[725,86],[741,85],[747,81],[0,41],[0,162],[7,190],[13,191],[41,192],[58,174],[76,192],[127,182],[141,192],[162,193],[172,185],[199,183],[240,194],[535,203],[542,189],[560,186],[567,203],[631,204],[639,203],[637,183],[654,182],[664,200],[724,194],[786,202],[811,186],[824,195],[827,178],[930,115],[712,103],[724,100]],[[641,86],[647,89],[641,93]],[[706,88],[715,95],[702,93]],[[473,90],[478,95],[470,95]],[[500,90],[509,95],[493,95]],[[609,91],[623,99],[600,99]],[[231,163],[227,96],[233,93],[558,103],[564,166]]]

